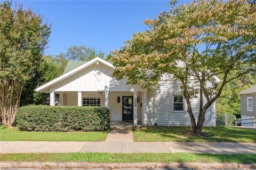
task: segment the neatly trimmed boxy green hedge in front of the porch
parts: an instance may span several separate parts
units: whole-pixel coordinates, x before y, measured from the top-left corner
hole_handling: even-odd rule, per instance
[[[20,107],[16,126],[21,131],[105,131],[108,108],[30,105]]]

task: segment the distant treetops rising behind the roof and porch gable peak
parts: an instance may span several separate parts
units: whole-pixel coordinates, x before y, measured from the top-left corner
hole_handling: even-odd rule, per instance
[[[61,70],[64,71],[68,60],[90,61],[96,58],[97,56],[99,58],[103,58],[104,53],[101,51],[97,52],[95,48],[81,45],[81,46],[71,46],[68,48],[66,53],[60,53],[56,55],[55,58],[58,60]]]

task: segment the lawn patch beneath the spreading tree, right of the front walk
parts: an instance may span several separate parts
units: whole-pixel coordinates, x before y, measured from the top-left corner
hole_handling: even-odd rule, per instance
[[[235,127],[204,127],[209,137],[198,137],[190,127],[142,127],[133,129],[136,142],[256,142],[256,130]]]

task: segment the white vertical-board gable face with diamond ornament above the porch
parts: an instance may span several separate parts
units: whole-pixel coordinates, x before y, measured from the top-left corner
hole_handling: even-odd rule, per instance
[[[100,77],[96,76],[100,71]],[[145,91],[140,85],[127,84],[127,78],[116,80],[111,77],[113,69],[105,64],[93,64],[77,74],[62,80],[51,86],[50,91],[54,92],[70,92],[70,91],[104,91],[106,86],[109,91]]]

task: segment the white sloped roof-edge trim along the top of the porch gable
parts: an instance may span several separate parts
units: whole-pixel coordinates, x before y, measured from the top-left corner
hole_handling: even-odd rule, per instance
[[[103,63],[103,64],[105,64],[106,66],[115,69],[115,67],[113,66],[113,64],[111,64],[110,62],[107,62],[106,60],[103,60],[103,59],[97,57],[97,58],[94,58],[94,59],[92,59],[92,60],[90,60],[90,61],[88,61],[88,62],[85,62],[84,64],[82,64],[82,65],[80,65],[80,66],[78,66],[78,67],[76,67],[76,68],[74,68],[74,69],[71,69],[70,71],[64,73],[64,74],[61,75],[60,77],[57,77],[57,78],[51,80],[50,82],[48,82],[48,83],[46,83],[46,84],[44,84],[44,85],[42,85],[42,86],[36,88],[35,91],[36,91],[36,92],[39,92],[39,91],[41,91],[41,92],[46,92],[46,89],[49,88],[50,86],[52,86],[52,85],[54,85],[54,84],[57,84],[57,83],[60,82],[61,80],[66,79],[67,77],[70,77],[70,76],[76,74],[77,72],[83,70],[84,68],[89,67],[89,66],[91,66],[92,64],[97,63],[97,62]],[[71,68],[71,67],[70,67],[70,68]]]

